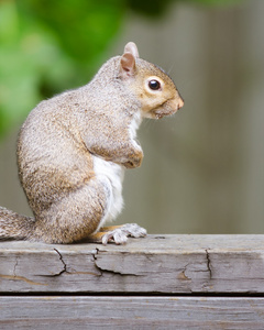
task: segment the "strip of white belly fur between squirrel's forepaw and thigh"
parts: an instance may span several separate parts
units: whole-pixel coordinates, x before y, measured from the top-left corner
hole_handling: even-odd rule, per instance
[[[97,179],[103,183],[108,193],[107,209],[98,226],[99,230],[106,221],[114,220],[123,208],[122,182],[124,168],[121,165],[107,162],[95,155],[92,158]]]

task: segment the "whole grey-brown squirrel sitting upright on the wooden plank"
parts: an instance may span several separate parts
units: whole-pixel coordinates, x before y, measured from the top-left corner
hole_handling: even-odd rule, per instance
[[[91,81],[41,101],[18,138],[19,178],[34,217],[0,207],[0,240],[123,244],[135,223],[106,227],[123,207],[124,168],[141,165],[136,130],[184,106],[175,84],[130,42]]]

